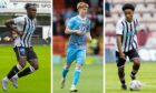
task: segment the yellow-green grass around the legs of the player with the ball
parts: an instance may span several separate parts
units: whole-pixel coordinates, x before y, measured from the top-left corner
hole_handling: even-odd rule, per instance
[[[126,82],[129,85],[131,63],[126,64]],[[123,91],[117,76],[115,63],[106,63],[106,93],[156,93],[156,63],[142,63],[137,79],[143,83],[140,91]]]

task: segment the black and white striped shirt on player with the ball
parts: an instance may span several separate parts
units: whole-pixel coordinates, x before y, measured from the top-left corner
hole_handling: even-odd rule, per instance
[[[123,52],[128,52],[133,49],[137,49],[137,28],[138,28],[138,20],[136,18],[129,23],[126,21],[125,18],[121,18],[116,28],[116,34],[121,35],[121,49]],[[118,48],[117,48],[118,51]]]

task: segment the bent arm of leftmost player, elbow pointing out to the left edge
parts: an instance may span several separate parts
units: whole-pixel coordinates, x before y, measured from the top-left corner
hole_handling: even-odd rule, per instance
[[[18,29],[13,27],[14,22],[12,19],[7,20],[4,24],[8,29],[10,29],[11,32],[16,32],[18,35],[23,34],[22,31],[18,31]]]

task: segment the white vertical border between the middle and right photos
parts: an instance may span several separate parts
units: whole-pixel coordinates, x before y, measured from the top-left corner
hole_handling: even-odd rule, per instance
[[[103,43],[104,43],[104,45],[103,45],[103,93],[105,93],[106,92],[106,89],[105,89],[105,85],[106,85],[106,80],[105,80],[105,78],[106,78],[106,66],[105,66],[105,20],[106,20],[106,17],[105,17],[105,0],[104,0],[104,2],[103,2]]]

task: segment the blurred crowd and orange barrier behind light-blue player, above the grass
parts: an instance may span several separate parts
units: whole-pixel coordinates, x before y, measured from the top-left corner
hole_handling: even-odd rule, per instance
[[[103,0],[53,0],[53,18],[52,18],[52,40],[53,40],[53,63],[59,64],[60,62],[65,63],[66,49],[69,35],[65,34],[65,22],[66,20],[78,14],[77,3],[79,1],[85,1],[89,3],[89,13],[88,18],[91,20],[91,37],[92,41],[88,43],[87,51],[87,64],[92,63],[103,63]]]

